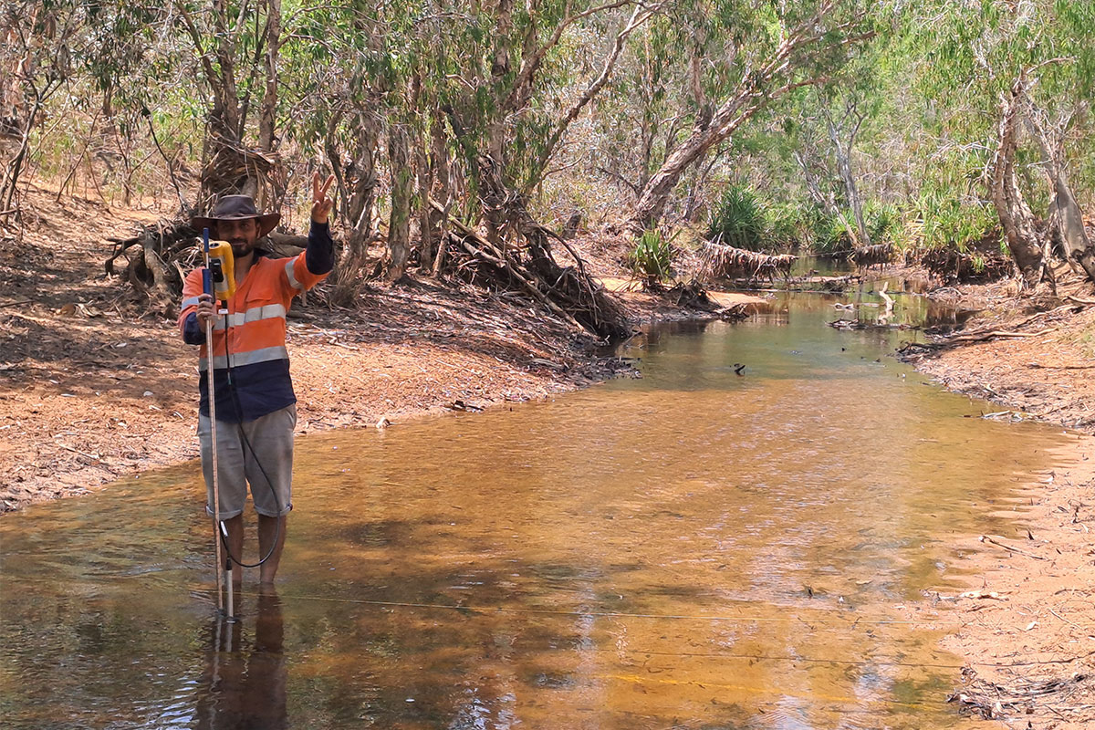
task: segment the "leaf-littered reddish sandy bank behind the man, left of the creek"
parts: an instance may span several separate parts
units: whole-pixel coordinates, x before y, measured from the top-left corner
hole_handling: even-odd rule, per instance
[[[0,239],[0,512],[197,456],[197,348],[103,271],[108,239],[157,217],[62,200],[32,192],[23,240]],[[631,286],[606,251],[590,263],[636,325],[696,315]],[[716,305],[747,301],[763,300],[723,294]],[[370,282],[356,311],[313,296],[295,304],[288,345],[301,434],[631,372],[520,297],[431,280]]]

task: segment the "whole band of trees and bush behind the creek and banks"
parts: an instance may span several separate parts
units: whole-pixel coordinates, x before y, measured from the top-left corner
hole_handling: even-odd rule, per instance
[[[34,178],[155,206],[115,253],[169,312],[189,215],[242,192],[291,232],[320,171],[341,304],[504,280],[612,334],[552,254],[590,232],[652,283],[704,245],[1095,280],[1093,27],[1091,0],[13,0],[0,234]]]

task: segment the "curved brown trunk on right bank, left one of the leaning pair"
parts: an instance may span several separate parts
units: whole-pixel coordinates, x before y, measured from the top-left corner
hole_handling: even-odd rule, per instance
[[[1019,77],[1012,86],[1011,99],[1001,104],[1000,140],[992,161],[992,202],[1000,217],[1007,248],[1023,275],[1023,285],[1034,287],[1041,280],[1042,273],[1040,236],[1015,174],[1018,113],[1026,89],[1026,80]]]

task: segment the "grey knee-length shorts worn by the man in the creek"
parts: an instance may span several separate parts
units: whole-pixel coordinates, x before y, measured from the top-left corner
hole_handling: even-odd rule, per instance
[[[296,426],[296,404],[241,424],[217,421],[220,520],[230,520],[243,512],[249,483],[251,499],[260,514],[278,517],[292,509],[292,431]],[[212,439],[208,416],[198,416],[198,440],[206,479],[206,511],[211,515]]]

